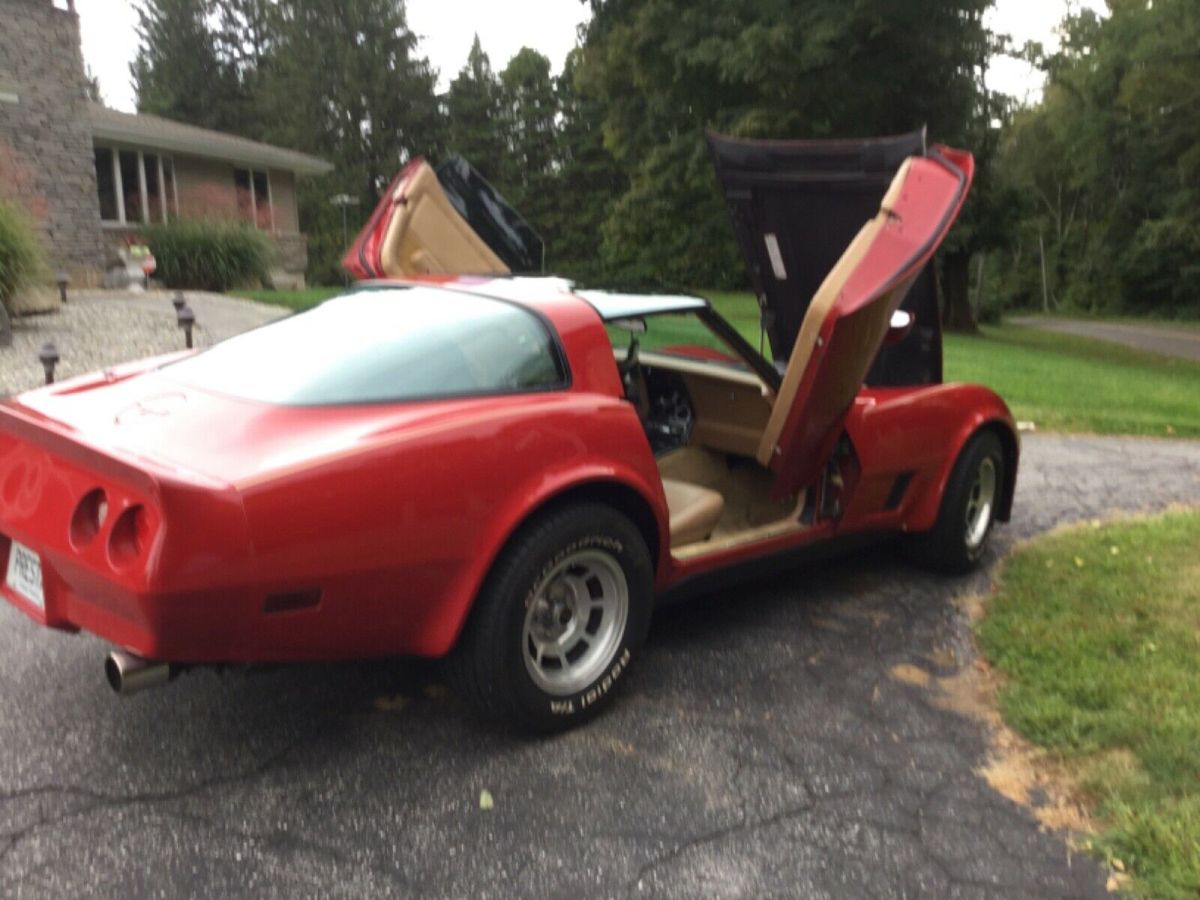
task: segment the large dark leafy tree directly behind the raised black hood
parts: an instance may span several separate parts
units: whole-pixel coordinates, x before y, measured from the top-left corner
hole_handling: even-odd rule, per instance
[[[744,280],[704,128],[869,137],[925,124],[964,138],[982,106],[988,2],[593,0],[581,82],[602,98],[606,145],[630,175],[605,256],[640,277]]]

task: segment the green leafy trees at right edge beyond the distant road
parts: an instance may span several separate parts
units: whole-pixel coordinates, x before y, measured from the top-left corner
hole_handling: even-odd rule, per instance
[[[1063,22],[1042,102],[1006,137],[1003,174],[1030,198],[1020,234],[1044,247],[1049,300],[1200,316],[1200,14],[1188,0],[1110,11]],[[1020,257],[1012,300],[1042,302],[1040,262]]]

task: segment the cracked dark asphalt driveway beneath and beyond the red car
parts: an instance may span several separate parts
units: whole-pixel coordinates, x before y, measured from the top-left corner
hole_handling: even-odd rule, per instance
[[[996,553],[1200,503],[1200,444],[1032,436],[1019,484]],[[1104,896],[976,774],[983,727],[889,677],[970,665],[986,584],[881,548],[668,608],[611,713],[545,740],[419,664],[120,700],[100,641],[2,605],[0,895]]]

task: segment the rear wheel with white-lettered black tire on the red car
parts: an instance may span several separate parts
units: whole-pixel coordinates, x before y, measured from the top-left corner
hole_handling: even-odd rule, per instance
[[[496,560],[448,659],[450,683],[487,718],[572,728],[612,701],[653,600],[654,566],[632,522],[599,503],[552,510]]]

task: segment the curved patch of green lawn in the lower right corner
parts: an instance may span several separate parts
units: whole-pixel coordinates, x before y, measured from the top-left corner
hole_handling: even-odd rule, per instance
[[[1144,896],[1200,896],[1200,511],[1019,550],[978,626],[1000,708],[1061,758]]]

